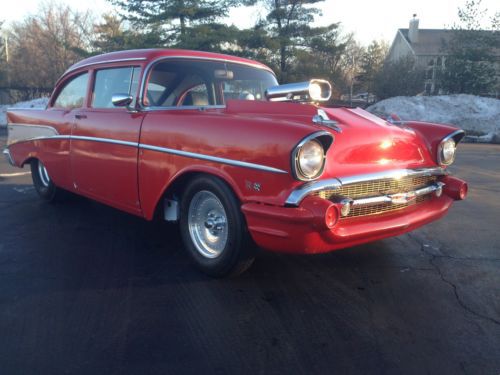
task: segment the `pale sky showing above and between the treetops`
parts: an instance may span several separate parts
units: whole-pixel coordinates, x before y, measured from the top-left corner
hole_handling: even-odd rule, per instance
[[[1,6],[0,20],[19,21],[29,13],[36,12],[40,0],[6,1]],[[110,12],[113,7],[106,0],[61,0],[79,10],[91,9],[96,13]],[[457,21],[457,8],[465,0],[326,0],[321,5],[323,17],[320,24],[341,22],[345,32],[355,32],[358,40],[368,44],[373,39],[392,41],[398,28],[408,27],[413,13],[420,19],[420,27],[441,29]],[[483,7],[493,15],[500,11],[499,0],[482,0]],[[260,13],[259,8],[236,9],[231,13],[229,23],[239,27],[249,27]],[[489,24],[483,25],[488,27]]]

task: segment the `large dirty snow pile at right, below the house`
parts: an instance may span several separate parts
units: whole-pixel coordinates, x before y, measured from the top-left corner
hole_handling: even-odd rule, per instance
[[[482,137],[479,142],[500,141],[500,100],[474,95],[398,96],[367,108],[376,114],[396,114],[402,120],[451,124]]]

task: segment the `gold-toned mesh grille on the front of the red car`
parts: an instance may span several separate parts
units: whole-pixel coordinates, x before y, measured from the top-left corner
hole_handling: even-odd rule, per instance
[[[437,176],[407,176],[400,179],[373,180],[344,185],[336,190],[322,190],[313,193],[313,195],[332,201],[335,201],[337,198],[341,197],[351,199],[369,198],[386,194],[397,194],[415,191],[417,189],[431,185],[432,183],[436,182],[437,179]],[[367,207],[353,207],[349,215],[345,218],[376,215],[396,211],[415,204],[419,204],[428,199],[430,199],[430,195],[420,196],[414,201],[403,204],[382,203]]]

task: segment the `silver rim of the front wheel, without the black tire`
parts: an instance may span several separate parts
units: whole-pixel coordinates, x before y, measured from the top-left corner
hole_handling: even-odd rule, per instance
[[[217,258],[228,240],[227,214],[222,202],[210,191],[197,192],[189,204],[189,235],[198,252]]]

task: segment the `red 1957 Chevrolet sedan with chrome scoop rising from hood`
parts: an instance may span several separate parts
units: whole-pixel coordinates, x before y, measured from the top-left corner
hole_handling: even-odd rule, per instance
[[[134,50],[83,60],[44,110],[8,112],[12,165],[46,201],[66,190],[179,222],[213,276],[261,248],[313,254],[411,231],[464,199],[447,172],[464,132],[326,108],[323,80],[278,86],[238,57]]]

